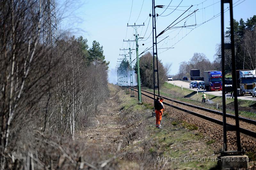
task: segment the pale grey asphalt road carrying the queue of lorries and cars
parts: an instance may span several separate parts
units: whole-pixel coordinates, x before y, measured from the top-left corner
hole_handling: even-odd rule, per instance
[[[179,87],[182,86],[182,88],[189,89],[189,82],[179,81],[179,80],[177,80],[177,81],[166,81],[166,82],[168,82],[170,84],[175,84],[175,86],[179,86]],[[200,82],[200,81],[198,81],[198,82]],[[194,89],[191,88],[190,90],[196,91],[197,89],[196,88],[194,88]],[[201,93],[205,92],[206,94],[211,94],[211,95],[214,95],[214,96],[222,96],[222,91],[211,91],[211,92],[209,92],[209,91],[200,89],[198,91],[198,93],[199,92],[201,92]],[[231,98],[230,93],[227,94],[227,98],[229,98],[229,97]],[[253,101],[256,101],[256,97],[252,97],[251,95],[239,96],[237,98],[238,99],[242,99],[242,100],[253,100]]]

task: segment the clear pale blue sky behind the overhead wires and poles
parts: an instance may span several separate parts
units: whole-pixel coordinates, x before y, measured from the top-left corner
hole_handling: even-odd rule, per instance
[[[139,54],[153,45],[152,17],[149,17],[149,13],[152,14],[151,0],[74,0],[68,4],[64,1],[55,1],[57,8],[63,11],[60,29],[68,29],[76,37],[82,35],[90,47],[93,40],[103,46],[105,59],[110,61],[108,79],[111,83],[117,80],[115,67],[117,58],[122,57],[119,54],[128,54],[128,50],[120,49],[136,48],[135,43],[123,42],[134,40],[134,28],[127,27],[127,23],[145,25],[137,28],[139,37],[144,37],[138,42]],[[210,61],[214,60],[216,45],[221,41],[220,0],[155,0],[155,5],[164,5],[164,8],[156,8],[159,14],[156,17],[157,35],[188,10],[174,22],[180,21],[177,25],[172,24],[172,29],[157,38],[158,58],[163,64],[172,63],[170,75],[178,73],[179,63],[189,61],[195,52],[204,53]],[[228,4],[224,5],[227,11],[224,14],[225,27],[229,27],[230,21],[228,7]],[[234,19],[238,21],[256,15],[255,0],[233,0],[233,7]],[[187,27],[181,28],[184,25]],[[135,54],[133,50],[132,60],[136,58]]]

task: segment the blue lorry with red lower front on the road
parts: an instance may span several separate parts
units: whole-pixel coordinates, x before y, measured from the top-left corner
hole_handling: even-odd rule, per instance
[[[205,71],[204,86],[208,91],[222,90],[222,73],[221,71]]]

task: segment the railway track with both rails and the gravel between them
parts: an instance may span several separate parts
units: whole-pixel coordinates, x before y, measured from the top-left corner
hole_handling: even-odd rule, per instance
[[[127,88],[131,89],[130,86],[128,86]],[[133,90],[138,92],[135,89],[137,89],[137,88],[133,87]],[[143,92],[143,93],[141,93],[142,95],[144,95],[148,98],[154,99],[154,97],[152,97],[154,95],[153,93],[150,93],[150,92],[145,91],[145,90],[141,90],[141,91]],[[145,93],[147,93],[149,95],[152,95],[152,96],[149,96]],[[158,96],[158,95],[156,95],[156,96]],[[161,96],[161,97],[163,97],[163,96]],[[183,111],[183,112],[187,112],[187,113],[192,114],[194,116],[200,117],[204,120],[208,120],[208,121],[211,121],[213,123],[223,125],[223,122],[221,121],[222,112],[218,112],[218,111],[214,111],[214,110],[211,110],[211,109],[195,106],[195,105],[192,105],[192,104],[183,103],[183,102],[173,100],[173,99],[170,99],[170,98],[167,98],[167,97],[163,97],[163,98],[165,100],[169,101],[168,103],[163,102],[165,105],[168,105],[170,107],[173,107],[173,108],[178,109],[178,110]],[[175,103],[175,105],[171,104],[170,102]],[[196,110],[196,112],[193,112],[191,110]],[[202,111],[203,111],[203,113],[198,113],[198,112],[202,112]],[[228,128],[235,128],[235,126],[234,126],[235,116],[231,115],[231,114],[226,114],[226,115],[227,115],[227,127]],[[245,135],[249,135],[251,137],[256,138],[256,132],[255,132],[256,121],[248,119],[248,118],[243,118],[243,117],[239,117],[239,120],[240,120],[240,122],[239,122],[240,125],[242,127],[246,127],[246,129],[240,127],[239,128],[240,132],[245,134]]]

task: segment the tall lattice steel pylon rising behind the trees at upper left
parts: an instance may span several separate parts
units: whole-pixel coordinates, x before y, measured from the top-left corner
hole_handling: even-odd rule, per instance
[[[43,43],[53,46],[57,41],[55,0],[43,0]]]

